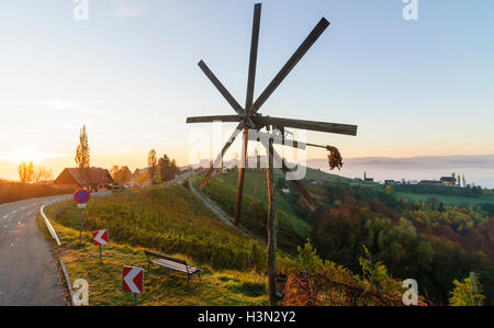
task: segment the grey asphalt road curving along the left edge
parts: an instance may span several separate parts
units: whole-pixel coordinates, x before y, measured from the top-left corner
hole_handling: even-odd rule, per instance
[[[37,227],[49,196],[0,204],[0,306],[66,305],[48,242]]]

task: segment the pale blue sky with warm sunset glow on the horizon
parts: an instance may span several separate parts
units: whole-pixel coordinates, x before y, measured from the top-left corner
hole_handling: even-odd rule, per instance
[[[153,148],[186,165],[191,134],[211,132],[186,117],[234,114],[198,61],[245,103],[255,3],[89,0],[78,21],[71,0],[1,1],[0,178],[21,160],[74,167],[83,124],[92,166],[145,167]],[[346,158],[494,154],[492,0],[418,0],[416,21],[402,0],[262,4],[256,97],[322,16],[332,24],[260,113],[358,125],[307,134]]]

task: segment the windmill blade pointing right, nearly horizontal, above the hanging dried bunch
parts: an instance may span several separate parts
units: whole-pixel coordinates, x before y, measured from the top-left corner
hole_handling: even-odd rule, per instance
[[[316,121],[291,120],[281,117],[259,116],[256,117],[259,126],[273,125],[278,127],[292,127],[307,131],[326,132],[341,135],[356,136],[357,125],[326,123]]]

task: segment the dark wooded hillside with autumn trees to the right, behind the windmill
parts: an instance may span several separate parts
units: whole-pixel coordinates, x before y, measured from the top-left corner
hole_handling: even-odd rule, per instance
[[[308,170],[307,177],[321,177]],[[237,172],[213,178],[203,193],[233,215]],[[487,303],[494,304],[494,214],[492,204],[454,206],[411,202],[381,186],[336,182],[332,176],[305,186],[316,201],[310,212],[295,191],[281,192],[277,173],[281,247],[293,252],[310,237],[322,257],[361,273],[359,257],[366,246],[397,279],[415,278],[423,295],[447,304],[453,280],[480,273]],[[246,174],[243,225],[265,236],[267,197],[263,174]],[[201,178],[194,181],[199,184]],[[303,226],[303,236],[296,226]]]

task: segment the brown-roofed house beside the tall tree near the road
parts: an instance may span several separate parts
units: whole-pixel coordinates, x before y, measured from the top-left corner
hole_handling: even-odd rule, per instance
[[[102,168],[67,168],[54,181],[55,184],[72,189],[87,189],[89,191],[104,191],[112,189],[113,178],[106,169]]]

